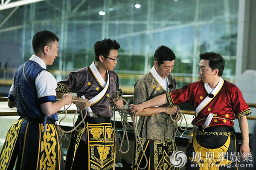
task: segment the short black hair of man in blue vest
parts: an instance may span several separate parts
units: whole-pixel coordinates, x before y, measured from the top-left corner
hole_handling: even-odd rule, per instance
[[[50,45],[52,42],[58,42],[58,37],[51,31],[39,31],[35,33],[32,46],[35,54],[38,54],[40,51],[44,51],[46,45]]]

